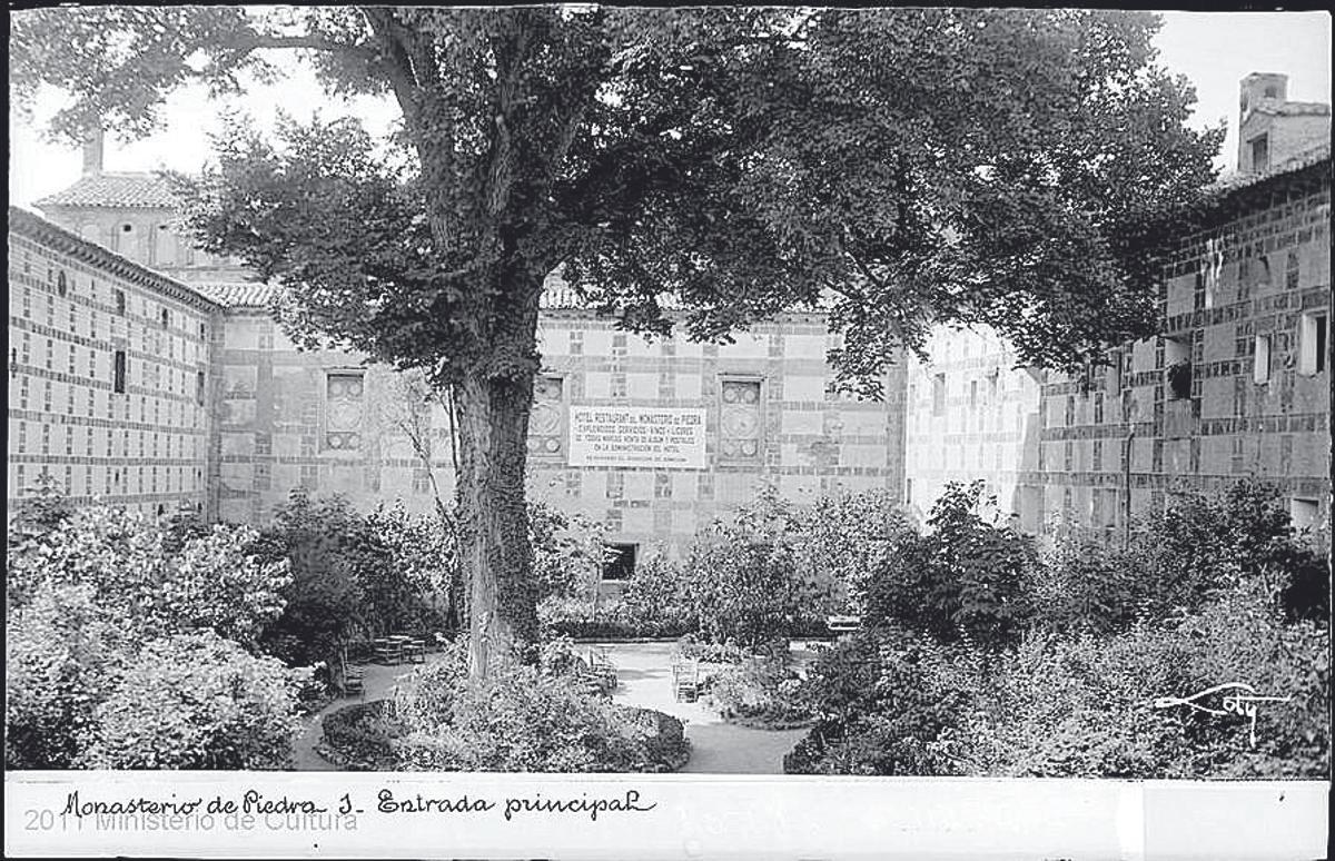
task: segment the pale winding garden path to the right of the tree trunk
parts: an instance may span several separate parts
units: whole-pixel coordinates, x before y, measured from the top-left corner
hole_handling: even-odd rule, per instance
[[[674,642],[606,643],[603,647],[617,665],[618,685],[613,699],[657,709],[685,725],[690,761],[682,773],[782,774],[784,754],[806,736],[804,729],[737,726],[701,702],[677,702],[672,689]]]

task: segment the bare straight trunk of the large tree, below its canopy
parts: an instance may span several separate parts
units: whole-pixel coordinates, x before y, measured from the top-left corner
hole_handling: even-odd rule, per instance
[[[534,659],[537,583],[525,507],[533,372],[466,372],[454,386],[459,419],[459,553],[467,585],[470,674]]]

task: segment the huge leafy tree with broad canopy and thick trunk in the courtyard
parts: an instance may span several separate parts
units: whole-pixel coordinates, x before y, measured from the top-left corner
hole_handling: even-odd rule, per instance
[[[150,133],[164,96],[296,52],[356,121],[239,125],[191,190],[214,251],[287,288],[304,340],[422,368],[458,411],[473,657],[535,638],[525,437],[543,279],[697,339],[824,303],[876,395],[930,324],[1072,367],[1148,331],[1155,231],[1220,131],[1155,65],[1145,13],[989,9],[142,8],[20,12],[20,96],[53,129]],[[72,48],[73,47],[73,48]],[[682,311],[665,312],[668,298]]]

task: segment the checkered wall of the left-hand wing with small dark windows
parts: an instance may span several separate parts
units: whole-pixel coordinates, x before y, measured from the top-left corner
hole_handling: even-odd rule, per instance
[[[8,268],[11,503],[47,474],[75,502],[200,506],[219,308],[13,208]]]

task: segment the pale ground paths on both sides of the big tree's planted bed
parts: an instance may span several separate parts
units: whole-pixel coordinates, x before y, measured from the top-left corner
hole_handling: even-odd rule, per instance
[[[583,653],[589,646],[579,646]],[[615,702],[657,709],[680,720],[690,740],[690,761],[682,773],[693,774],[782,774],[784,754],[806,734],[804,729],[762,730],[728,724],[718,713],[701,702],[677,702],[672,689],[672,658],[674,642],[606,643],[611,662],[617,665]],[[427,661],[438,655],[429,654]],[[801,653],[798,653],[801,658]],[[366,699],[392,695],[399,678],[414,665],[366,666]],[[356,697],[342,697],[307,720],[306,729],[294,745],[294,764],[298,772],[332,772],[335,768],[315,753],[323,733],[322,721],[327,714],[346,705],[359,702]]]

